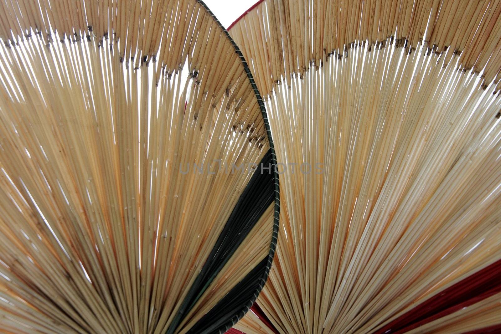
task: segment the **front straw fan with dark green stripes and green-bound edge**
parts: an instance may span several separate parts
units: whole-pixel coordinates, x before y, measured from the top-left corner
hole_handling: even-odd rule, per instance
[[[0,331],[215,333],[275,252],[263,101],[201,1],[0,2]]]

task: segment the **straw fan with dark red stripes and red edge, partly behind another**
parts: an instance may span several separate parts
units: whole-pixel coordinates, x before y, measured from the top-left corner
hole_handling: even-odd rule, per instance
[[[500,330],[500,15],[498,0],[264,0],[228,28],[282,198],[268,282],[234,332]]]

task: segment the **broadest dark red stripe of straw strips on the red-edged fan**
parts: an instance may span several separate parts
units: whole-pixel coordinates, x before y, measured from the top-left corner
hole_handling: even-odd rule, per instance
[[[501,291],[501,260],[431,296],[375,333],[400,333],[416,328],[499,291]]]

